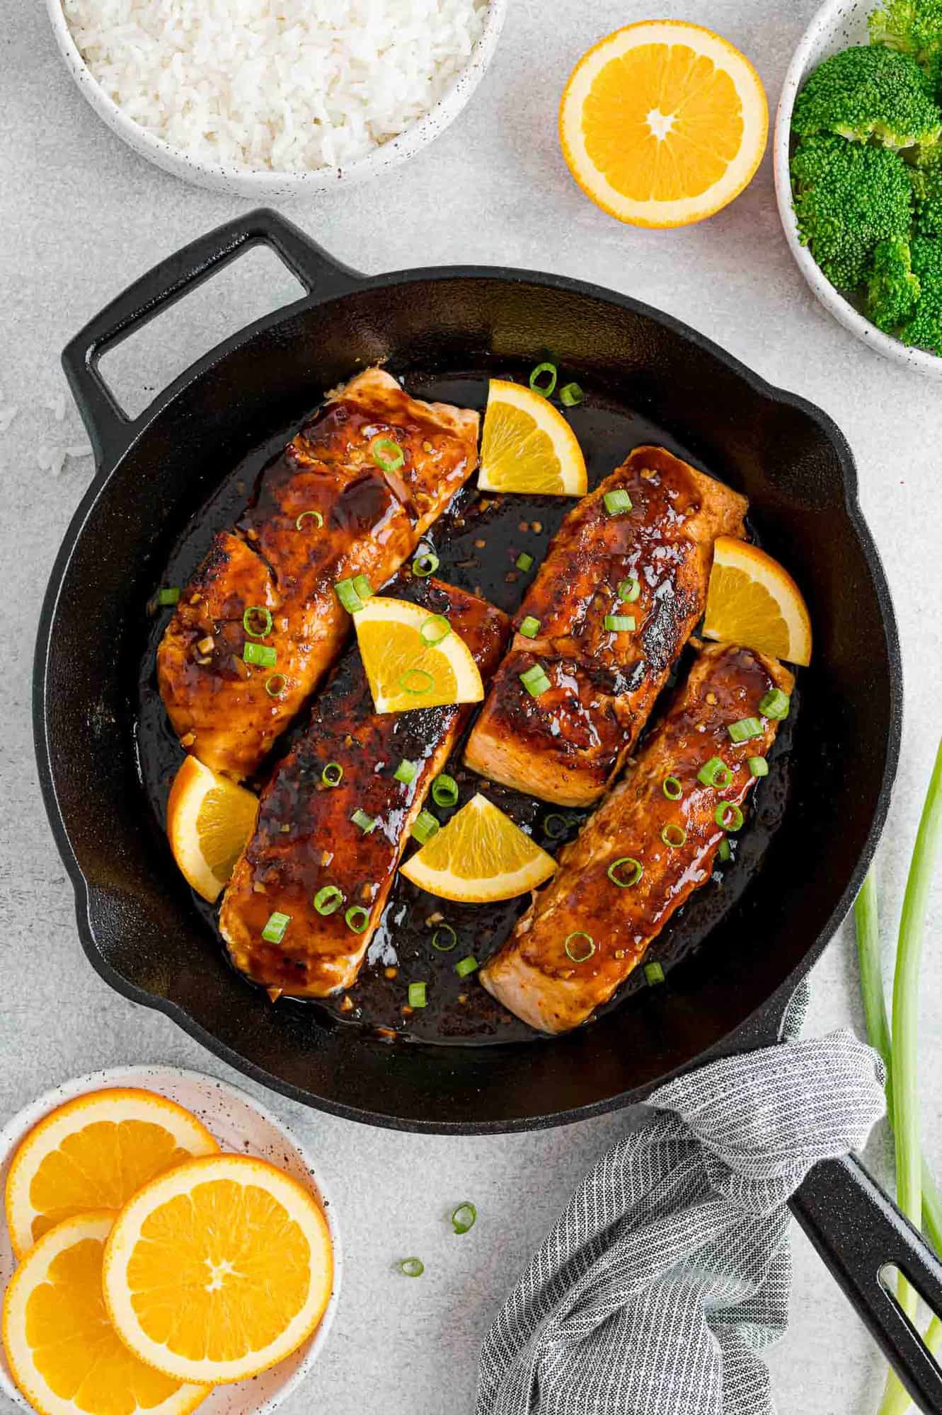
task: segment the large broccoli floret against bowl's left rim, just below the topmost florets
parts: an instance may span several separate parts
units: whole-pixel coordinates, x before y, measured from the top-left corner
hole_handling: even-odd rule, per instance
[[[908,236],[909,171],[898,153],[806,137],[792,154],[798,233],[839,290],[856,290],[870,273],[880,241]]]

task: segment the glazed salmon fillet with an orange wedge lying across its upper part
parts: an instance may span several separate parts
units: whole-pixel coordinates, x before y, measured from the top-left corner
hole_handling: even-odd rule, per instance
[[[406,593],[448,618],[487,682],[506,644],[506,616],[438,580],[413,579]],[[298,998],[351,986],[410,828],[471,710],[458,705],[378,715],[359,649],[344,655],[310,726],[263,791],[255,835],[225,891],[219,928],[236,968]],[[412,781],[396,780],[402,761],[417,768]],[[342,767],[335,787],[322,780],[328,763]],[[332,896],[330,914],[314,903],[325,887],[342,894],[342,903]],[[321,907],[328,903],[321,899]],[[348,923],[351,907],[364,911],[354,916],[359,931]],[[262,938],[274,911],[290,916],[280,945]]]

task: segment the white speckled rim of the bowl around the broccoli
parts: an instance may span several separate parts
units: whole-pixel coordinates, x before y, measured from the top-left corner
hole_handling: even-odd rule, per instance
[[[931,354],[928,350],[919,350],[909,344],[902,344],[891,334],[884,334],[876,324],[871,324],[866,316],[860,314],[860,311],[856,310],[853,304],[850,304],[850,301],[835,289],[816,263],[808,246],[803,246],[798,239],[798,222],[795,219],[795,211],[792,209],[792,184],[789,177],[789,146],[795,96],[805,79],[810,54],[818,44],[820,31],[839,14],[857,10],[864,3],[867,4],[867,10],[871,10],[874,8],[877,0],[851,0],[851,3],[849,3],[849,0],[825,0],[805,30],[805,34],[792,55],[791,64],[788,65],[785,82],[782,83],[782,95],[778,100],[778,110],[775,113],[774,167],[778,214],[785,232],[785,239],[792,256],[795,258],[795,263],[825,308],[829,310],[846,330],[850,330],[850,333],[856,334],[864,344],[868,344],[878,354],[883,354],[884,358],[891,359],[894,364],[904,364],[908,368],[919,369],[934,378],[942,378],[942,358],[939,358],[938,354]]]

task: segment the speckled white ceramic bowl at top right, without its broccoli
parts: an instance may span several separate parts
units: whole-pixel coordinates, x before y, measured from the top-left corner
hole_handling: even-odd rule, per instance
[[[795,50],[792,62],[785,75],[782,96],[775,115],[774,160],[775,160],[775,195],[778,212],[785,228],[785,239],[809,286],[836,320],[846,330],[856,334],[859,340],[868,344],[877,354],[892,359],[894,364],[904,364],[907,368],[928,374],[929,378],[942,378],[942,358],[925,350],[914,350],[891,334],[884,334],[870,320],[854,308],[854,306],[835,290],[810,252],[798,239],[798,224],[792,209],[792,188],[788,174],[789,136],[792,127],[792,106],[795,95],[801,89],[806,76],[822,59],[846,50],[851,44],[867,42],[867,16],[876,7],[877,0],[825,0],[812,23],[805,30],[802,42]]]

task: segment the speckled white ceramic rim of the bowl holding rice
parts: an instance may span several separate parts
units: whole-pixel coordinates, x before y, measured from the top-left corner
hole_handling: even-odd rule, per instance
[[[388,167],[396,167],[417,151],[427,147],[443,133],[465,106],[484,72],[494,58],[509,0],[489,0],[484,33],[464,69],[457,74],[438,102],[424,117],[361,157],[348,167],[318,167],[311,171],[273,171],[272,168],[226,167],[222,163],[207,163],[180,147],[171,147],[163,139],[136,123],[107,96],[98,79],[92,76],[85,59],[78,51],[69,31],[62,0],[47,0],[52,33],[65,59],[65,65],[98,116],[117,133],[129,147],[164,171],[182,177],[197,187],[225,191],[252,201],[270,202],[284,197],[314,197],[339,185],[365,181]]]

